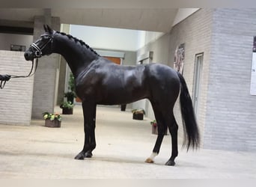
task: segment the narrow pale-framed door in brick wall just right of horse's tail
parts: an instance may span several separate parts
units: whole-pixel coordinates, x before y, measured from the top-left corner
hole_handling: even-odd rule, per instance
[[[195,74],[194,74],[194,88],[193,88],[193,105],[195,114],[198,116],[198,105],[200,102],[200,88],[201,88],[201,73],[203,69],[204,53],[195,55]]]

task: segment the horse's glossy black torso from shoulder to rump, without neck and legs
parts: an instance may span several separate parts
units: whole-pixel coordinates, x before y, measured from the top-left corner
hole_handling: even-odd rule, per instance
[[[180,82],[176,71],[163,64],[120,66],[106,58],[94,61],[80,76],[78,95],[97,104],[116,105],[150,99],[162,103],[176,97]]]

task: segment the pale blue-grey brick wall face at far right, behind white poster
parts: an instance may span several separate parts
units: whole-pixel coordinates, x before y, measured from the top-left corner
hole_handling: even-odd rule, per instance
[[[250,95],[255,9],[216,9],[204,147],[256,150],[256,96]]]

